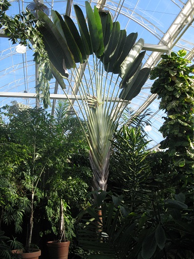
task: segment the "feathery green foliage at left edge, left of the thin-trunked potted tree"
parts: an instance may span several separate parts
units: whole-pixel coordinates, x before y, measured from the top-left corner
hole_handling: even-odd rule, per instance
[[[8,124],[0,126],[0,228],[2,223],[14,223],[15,232],[22,232],[23,215],[29,212],[30,202],[23,195],[17,171],[22,170],[30,158],[27,146],[14,143],[10,138]]]

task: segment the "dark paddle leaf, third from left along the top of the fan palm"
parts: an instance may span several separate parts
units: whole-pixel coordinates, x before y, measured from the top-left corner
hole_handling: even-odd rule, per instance
[[[68,25],[69,30],[71,31],[73,38],[81,52],[82,60],[84,63],[86,61],[87,57],[86,57],[86,53],[85,53],[85,48],[83,46],[83,42],[82,42],[79,32],[77,30],[77,27],[75,26],[75,23],[72,21],[72,19],[69,16],[64,15],[64,18]]]

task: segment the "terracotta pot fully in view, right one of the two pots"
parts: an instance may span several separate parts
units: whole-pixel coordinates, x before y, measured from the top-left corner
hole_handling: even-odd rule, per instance
[[[46,243],[49,250],[50,259],[67,259],[70,241],[57,242],[49,241]]]

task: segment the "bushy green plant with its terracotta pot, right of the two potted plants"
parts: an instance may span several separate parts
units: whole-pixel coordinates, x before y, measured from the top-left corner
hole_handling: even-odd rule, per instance
[[[46,232],[51,233],[52,229],[52,233],[56,236],[54,240],[46,242],[51,259],[67,259],[70,240],[75,237],[74,219],[68,204],[72,204],[74,209],[76,206],[80,206],[79,203],[83,204],[88,187],[82,179],[75,175],[77,170],[78,168],[68,168],[67,166],[64,171],[53,174],[48,181],[50,187],[47,188],[48,200],[45,209],[51,228]],[[72,196],[79,197],[79,201],[75,201],[76,198]]]

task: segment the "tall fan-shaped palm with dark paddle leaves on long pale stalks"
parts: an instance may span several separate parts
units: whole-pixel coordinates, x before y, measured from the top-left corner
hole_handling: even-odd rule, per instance
[[[76,99],[74,104],[79,107],[87,125],[85,136],[90,148],[93,188],[106,190],[110,140],[116,122],[129,101],[140,92],[150,69],[141,69],[143,39],[135,43],[137,33],[127,36],[125,30],[120,30],[118,22],[112,22],[110,14],[99,13],[96,7],[92,10],[88,2],[85,2],[85,7],[87,23],[82,10],[74,6],[79,31],[73,26],[71,18],[65,16],[63,20],[55,11],[52,12],[53,22],[41,11],[38,16],[44,22],[41,32],[54,76],[62,89],[65,88],[62,76],[66,76],[65,84],[70,85],[72,94],[76,96],[77,92],[74,92],[72,86],[74,81],[81,98],[81,101]],[[44,28],[49,33],[44,32]],[[53,48],[54,40],[57,40],[58,48]],[[67,54],[63,54],[65,49]],[[60,69],[56,62],[59,51]],[[74,65],[77,62],[80,64],[79,69]],[[71,70],[71,79],[67,76],[66,68]],[[119,94],[120,89],[123,90]],[[116,98],[120,102],[116,102]],[[75,106],[72,108],[76,112]]]

